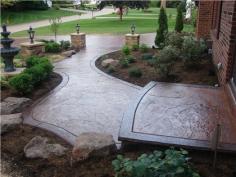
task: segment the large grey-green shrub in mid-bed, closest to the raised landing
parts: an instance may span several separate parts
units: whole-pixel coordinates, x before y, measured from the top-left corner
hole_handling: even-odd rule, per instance
[[[175,60],[178,58],[178,51],[172,46],[164,47],[156,58],[155,68],[162,78],[167,78]]]

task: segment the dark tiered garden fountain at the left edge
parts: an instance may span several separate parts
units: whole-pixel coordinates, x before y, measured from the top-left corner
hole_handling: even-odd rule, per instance
[[[5,72],[13,72],[15,71],[14,64],[13,64],[13,58],[15,55],[17,55],[20,51],[17,47],[11,47],[11,44],[13,43],[13,39],[8,38],[8,36],[11,34],[11,32],[7,31],[7,26],[4,24],[2,25],[2,32],[1,35],[3,38],[1,38],[1,44],[3,48],[1,48],[1,57],[4,60]]]

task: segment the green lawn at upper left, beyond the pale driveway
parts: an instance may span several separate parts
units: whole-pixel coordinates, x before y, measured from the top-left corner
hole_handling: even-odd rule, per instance
[[[6,23],[8,25],[27,23],[38,20],[45,20],[52,17],[64,17],[76,15],[76,12],[69,12],[63,10],[26,10],[26,11],[2,11],[1,13],[1,23]]]

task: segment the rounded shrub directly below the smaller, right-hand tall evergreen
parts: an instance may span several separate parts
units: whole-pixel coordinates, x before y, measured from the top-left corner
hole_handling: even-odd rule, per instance
[[[167,35],[166,45],[171,45],[173,47],[181,49],[183,41],[184,39],[180,33],[173,32]]]

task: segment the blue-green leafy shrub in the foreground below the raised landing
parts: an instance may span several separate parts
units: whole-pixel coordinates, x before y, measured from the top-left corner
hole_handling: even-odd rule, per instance
[[[200,177],[187,155],[185,150],[174,149],[142,154],[137,160],[118,155],[112,165],[116,177]]]

